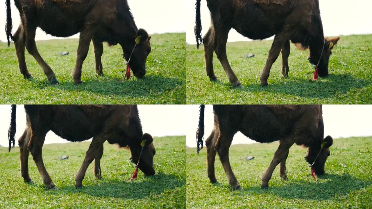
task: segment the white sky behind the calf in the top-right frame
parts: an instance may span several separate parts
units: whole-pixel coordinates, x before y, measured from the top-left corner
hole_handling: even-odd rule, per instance
[[[194,35],[195,3],[196,0],[189,0],[186,4],[186,42],[189,44],[196,44]],[[370,27],[372,20],[371,0],[319,0],[319,4],[325,36],[372,33],[372,27]],[[206,1],[202,0],[202,36],[208,31],[210,20]],[[228,42],[248,40],[234,29],[230,30]]]

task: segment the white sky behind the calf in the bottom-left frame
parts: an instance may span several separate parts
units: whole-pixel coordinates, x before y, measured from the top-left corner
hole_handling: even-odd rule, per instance
[[[8,147],[8,128],[10,125],[10,105],[0,105],[0,145]],[[186,135],[186,117],[184,105],[138,105],[138,112],[141,118],[142,130],[152,136],[175,136]],[[16,113],[16,146],[18,139],[26,128],[26,113],[23,105],[17,105]],[[65,143],[49,131],[45,137],[45,144]]]

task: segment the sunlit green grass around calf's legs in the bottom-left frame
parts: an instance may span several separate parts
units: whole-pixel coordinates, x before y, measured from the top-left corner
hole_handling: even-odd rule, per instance
[[[90,142],[45,145],[45,167],[57,190],[45,189],[30,155],[32,184],[20,174],[19,151],[0,148],[0,208],[185,208],[186,171],[185,136],[154,138],[154,176],[139,171],[128,181],[135,168],[128,160],[130,152],[116,145],[104,145],[101,159],[103,180],[93,175],[93,164],[83,180],[83,189],[75,189],[75,174],[83,162]],[[68,155],[67,160],[58,157]]]

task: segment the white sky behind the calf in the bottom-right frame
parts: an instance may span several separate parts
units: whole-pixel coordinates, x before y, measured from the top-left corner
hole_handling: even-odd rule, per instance
[[[195,133],[198,128],[199,105],[187,106],[186,145],[196,147]],[[205,106],[204,140],[211,134],[214,124],[212,105]],[[372,136],[372,105],[323,105],[324,136],[333,138],[350,136]],[[235,134],[232,144],[249,144],[255,141],[240,132]]]

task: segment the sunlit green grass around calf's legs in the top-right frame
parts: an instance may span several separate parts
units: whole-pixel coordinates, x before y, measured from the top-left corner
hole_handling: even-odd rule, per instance
[[[217,56],[214,71],[219,81],[209,81],[205,73],[204,47],[186,45],[188,104],[356,104],[372,103],[372,35],[341,36],[333,49],[330,75],[311,82],[314,68],[307,60],[308,51],[291,44],[288,58],[289,78],[280,75],[281,55],[274,63],[269,86],[260,86],[260,73],[271,47],[269,41],[227,44],[231,68],[244,88],[234,89],[228,82]],[[243,55],[255,54],[253,58]]]

